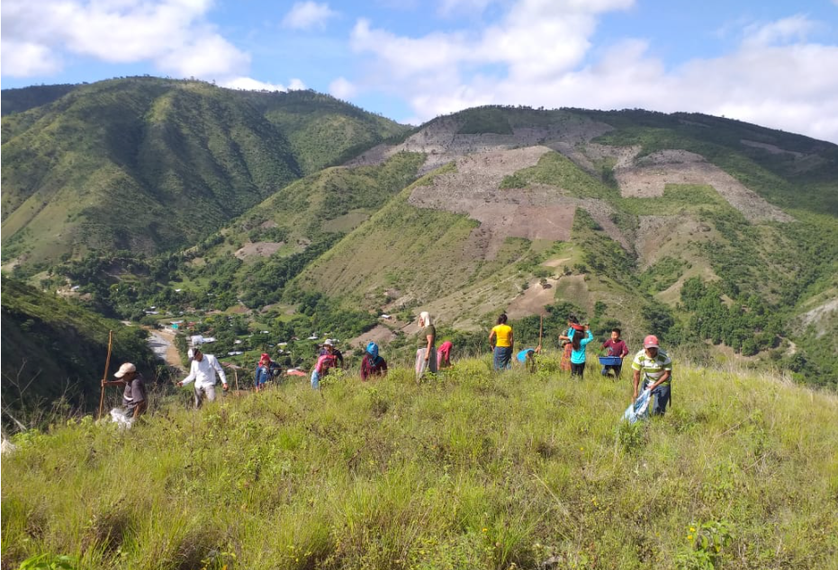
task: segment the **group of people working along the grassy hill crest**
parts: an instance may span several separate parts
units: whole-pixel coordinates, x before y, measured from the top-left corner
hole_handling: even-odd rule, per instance
[[[489,343],[492,351],[492,365],[494,370],[508,370],[511,368],[515,335],[508,323],[509,317],[501,314],[498,317],[497,325],[491,328]],[[451,366],[451,353],[453,344],[450,341],[440,344],[437,348],[437,328],[433,319],[427,311],[419,314],[419,335],[416,351],[416,362],[414,371],[416,379],[430,372],[437,373],[438,370]],[[575,316],[568,318],[567,331],[559,335],[563,343],[563,355],[561,361],[562,370],[571,372],[572,378],[582,379],[586,364],[586,349],[593,341],[593,334],[589,325],[581,325]],[[615,378],[620,377],[622,371],[622,360],[629,354],[626,342],[621,338],[619,328],[611,331],[610,338],[602,343],[601,348],[607,351],[608,356],[619,359],[618,363],[603,365],[601,374],[608,376],[613,373]],[[541,343],[536,348],[527,348],[518,352],[517,359],[527,367],[527,370],[536,371],[536,356],[542,351]],[[205,400],[215,401],[216,377],[221,379],[221,385],[226,391],[229,387],[227,376],[221,367],[218,359],[212,354],[204,354],[200,348],[189,349],[190,359],[189,374],[185,379],[177,382],[178,387],[194,382],[194,406],[200,408]],[[320,380],[329,374],[330,370],[342,369],[344,367],[343,354],[335,346],[335,342],[327,339],[319,347],[317,360],[311,370],[311,387],[319,388]],[[632,360],[634,400],[642,390],[650,390],[654,396],[652,414],[663,414],[671,400],[671,376],[672,361],[670,357],[660,349],[660,343],[653,334],[644,338],[643,349],[635,354]],[[271,379],[275,379],[281,373],[279,365],[272,361],[270,355],[262,353],[257,362],[255,387],[259,391],[266,386]],[[369,342],[366,344],[364,358],[361,361],[361,379],[366,381],[374,377],[383,377],[387,374],[387,361],[379,354],[378,344]],[[127,415],[132,419],[145,413],[148,408],[148,397],[146,395],[145,380],[137,371],[136,366],[130,362],[122,364],[120,370],[114,374],[116,380],[104,381],[102,386],[124,387],[122,394],[122,405],[127,410]],[[642,382],[641,382],[642,380]]]

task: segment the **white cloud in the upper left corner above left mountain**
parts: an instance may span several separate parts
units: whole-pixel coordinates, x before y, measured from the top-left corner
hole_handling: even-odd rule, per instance
[[[3,74],[55,71],[61,53],[110,63],[151,61],[183,76],[247,72],[242,67],[249,65],[248,54],[205,22],[211,5],[212,0],[5,0]],[[32,65],[17,65],[18,59]]]

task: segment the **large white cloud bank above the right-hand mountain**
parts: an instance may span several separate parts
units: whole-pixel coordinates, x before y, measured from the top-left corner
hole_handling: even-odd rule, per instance
[[[836,0],[838,1],[838,0]],[[601,13],[630,0],[518,0],[473,33],[417,38],[360,20],[350,45],[371,60],[357,90],[396,94],[414,117],[485,103],[700,111],[838,141],[838,46],[807,42],[820,24],[796,15],[743,26],[716,58],[666,67],[646,40],[626,39],[591,58]],[[348,81],[348,80],[347,80]]]

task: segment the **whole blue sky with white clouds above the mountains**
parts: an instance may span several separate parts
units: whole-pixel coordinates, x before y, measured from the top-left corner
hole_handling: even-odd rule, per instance
[[[195,76],[418,123],[485,103],[702,111],[838,142],[838,0],[5,0],[3,88]]]

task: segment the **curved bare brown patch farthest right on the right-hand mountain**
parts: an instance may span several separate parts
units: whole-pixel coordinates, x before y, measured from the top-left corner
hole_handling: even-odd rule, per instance
[[[709,185],[749,221],[794,219],[703,156],[686,150],[662,150],[635,161],[634,166],[616,167],[614,173],[624,197],[661,197],[666,184]]]

